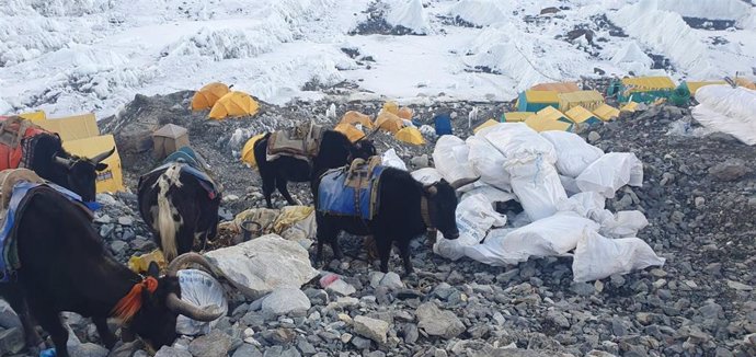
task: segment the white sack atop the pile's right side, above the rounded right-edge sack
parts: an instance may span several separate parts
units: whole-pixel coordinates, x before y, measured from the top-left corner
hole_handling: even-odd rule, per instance
[[[557,150],[557,171],[569,177],[577,177],[585,168],[604,156],[604,151],[569,131],[549,130],[540,134]]]

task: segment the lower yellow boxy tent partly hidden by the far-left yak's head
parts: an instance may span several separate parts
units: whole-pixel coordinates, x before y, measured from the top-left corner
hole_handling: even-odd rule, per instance
[[[99,153],[116,148],[115,139],[112,135],[64,141],[62,147],[72,154],[87,158],[92,158]],[[121,169],[118,149],[116,148],[115,152],[102,162],[107,164],[107,169],[98,172],[98,193],[124,191],[124,174]]]

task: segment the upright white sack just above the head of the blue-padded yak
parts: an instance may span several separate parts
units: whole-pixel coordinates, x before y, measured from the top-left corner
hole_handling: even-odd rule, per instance
[[[468,159],[469,152],[470,150],[462,139],[453,135],[444,135],[436,141],[436,147],[433,149],[433,162],[438,173],[447,182],[462,178],[472,180],[478,176]]]

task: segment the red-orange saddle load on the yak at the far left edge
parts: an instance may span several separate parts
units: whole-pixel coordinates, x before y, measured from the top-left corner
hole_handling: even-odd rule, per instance
[[[47,130],[20,116],[0,116],[0,170],[28,168],[34,140]]]

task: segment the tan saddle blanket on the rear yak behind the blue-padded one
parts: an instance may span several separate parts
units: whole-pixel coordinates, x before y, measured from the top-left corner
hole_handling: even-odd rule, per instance
[[[302,123],[289,130],[278,130],[267,139],[267,160],[282,156],[310,161],[318,156],[325,129],[314,123]]]

